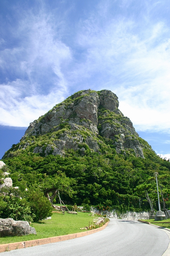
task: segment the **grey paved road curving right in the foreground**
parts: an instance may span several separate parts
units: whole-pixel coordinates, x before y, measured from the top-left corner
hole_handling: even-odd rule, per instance
[[[168,235],[158,227],[110,219],[104,230],[92,235],[1,252],[0,256],[161,256],[169,241]]]

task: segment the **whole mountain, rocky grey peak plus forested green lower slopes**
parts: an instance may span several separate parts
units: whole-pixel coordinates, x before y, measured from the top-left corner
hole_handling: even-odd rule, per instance
[[[114,93],[89,89],[30,123],[21,141],[3,157],[13,186],[39,189],[48,196],[59,189],[66,204],[141,211],[149,210],[142,184],[150,184],[148,194],[157,209],[153,174],[159,172],[170,207],[169,160],[157,156],[138,136],[118,105]]]

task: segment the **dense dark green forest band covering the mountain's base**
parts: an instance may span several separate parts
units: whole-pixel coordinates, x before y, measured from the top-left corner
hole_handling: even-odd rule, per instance
[[[60,188],[62,200],[67,204],[102,204],[120,211],[138,209],[139,197],[144,198],[144,194],[138,193],[135,188],[144,183],[152,184],[152,196],[149,195],[154,199],[156,209],[157,194],[153,173],[155,170],[159,172],[163,191],[168,199],[170,163],[152,150],[144,149],[144,154],[145,158],[115,154],[112,148],[102,155],[88,151],[84,156],[68,150],[65,157],[41,157],[22,152],[17,157],[5,158],[4,162],[11,169],[11,177],[16,185],[21,188],[39,187],[42,192]],[[166,204],[168,207],[169,202],[166,201]],[[141,210],[149,209],[147,204],[140,207]]]

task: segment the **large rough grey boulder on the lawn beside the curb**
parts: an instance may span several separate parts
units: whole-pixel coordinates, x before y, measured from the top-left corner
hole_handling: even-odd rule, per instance
[[[35,228],[30,227],[28,221],[0,219],[0,236],[25,236],[35,234]]]

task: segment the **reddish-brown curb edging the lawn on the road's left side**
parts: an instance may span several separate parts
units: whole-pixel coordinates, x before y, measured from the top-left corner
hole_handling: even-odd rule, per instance
[[[107,224],[108,224],[108,222],[106,222],[100,228],[95,228],[92,230],[75,233],[75,234],[70,234],[70,235],[54,236],[54,237],[49,237],[49,238],[41,238],[41,239],[36,239],[36,240],[29,240],[29,241],[25,241],[25,242],[17,242],[17,243],[10,243],[10,244],[0,244],[0,252],[6,252],[6,251],[15,250],[15,249],[21,249],[21,248],[41,245],[41,244],[56,243],[56,242],[65,241],[65,240],[69,240],[69,239],[73,239],[73,238],[91,235],[93,233],[99,232],[99,231],[103,230],[104,228],[106,228]]]

